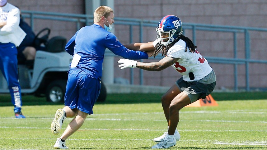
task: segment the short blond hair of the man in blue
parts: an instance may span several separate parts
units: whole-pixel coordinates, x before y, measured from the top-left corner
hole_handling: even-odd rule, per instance
[[[114,13],[114,11],[110,7],[99,6],[98,8],[96,8],[94,13],[94,22],[99,22],[102,16],[107,18],[110,15],[110,12]]]

